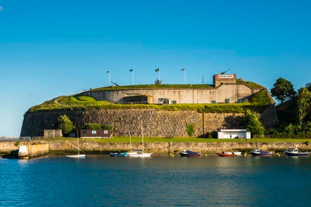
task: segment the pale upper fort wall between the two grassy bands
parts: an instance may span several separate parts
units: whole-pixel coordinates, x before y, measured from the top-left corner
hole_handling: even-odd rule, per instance
[[[245,99],[263,88],[251,88],[247,84],[223,84],[218,88],[147,88],[147,89],[120,89],[103,91],[86,91],[81,93],[90,96],[97,101],[108,101],[111,103],[123,103],[123,98],[136,95],[149,95],[153,97],[150,104],[158,104],[158,99],[167,98],[176,101],[176,104],[211,104],[236,103],[238,99]],[[272,100],[273,103],[273,100]]]

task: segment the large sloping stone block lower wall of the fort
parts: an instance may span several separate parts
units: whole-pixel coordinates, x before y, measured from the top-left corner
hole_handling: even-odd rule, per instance
[[[42,137],[44,130],[53,129],[57,118],[66,114],[80,129],[84,123],[107,124],[113,127],[115,137],[141,136],[141,122],[144,137],[188,137],[187,124],[193,124],[194,137],[206,137],[219,129],[237,129],[242,113],[199,113],[195,110],[167,111],[155,108],[145,109],[94,109],[26,113],[21,137]],[[274,104],[261,114],[265,127],[278,124]]]

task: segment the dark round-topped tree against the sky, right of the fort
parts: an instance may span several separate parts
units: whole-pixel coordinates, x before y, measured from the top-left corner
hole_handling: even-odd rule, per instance
[[[270,90],[271,95],[283,104],[288,98],[294,98],[296,91],[294,90],[293,84],[285,78],[278,78],[273,84],[273,88]]]

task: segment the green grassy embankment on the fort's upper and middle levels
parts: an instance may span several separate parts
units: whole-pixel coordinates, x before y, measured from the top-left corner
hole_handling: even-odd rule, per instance
[[[238,80],[238,83],[247,83],[254,88],[263,88],[262,86]],[[104,87],[93,90],[120,90],[135,88],[211,88],[210,85],[134,85],[134,86],[116,86]],[[59,104],[58,104],[58,103]],[[43,111],[66,111],[66,110],[92,110],[92,109],[142,109],[155,108],[157,110],[196,110],[205,113],[243,113],[246,109],[256,112],[262,112],[271,100],[267,93],[262,90],[252,96],[250,102],[233,103],[233,104],[112,104],[106,101],[96,101],[92,97],[82,96],[80,94],[74,96],[61,96],[42,104],[31,107],[27,112],[43,112]]]

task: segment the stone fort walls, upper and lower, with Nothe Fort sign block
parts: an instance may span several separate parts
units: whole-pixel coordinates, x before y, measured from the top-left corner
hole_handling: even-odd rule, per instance
[[[245,83],[236,83],[236,74],[215,74],[213,87],[199,88],[188,85],[185,88],[137,88],[89,90],[82,96],[90,96],[97,101],[116,104],[220,104],[249,101],[255,93],[265,90],[271,104],[261,113],[261,121],[267,128],[278,124],[275,103],[264,88],[252,88]],[[80,129],[84,123],[107,124],[113,127],[114,136],[141,136],[141,123],[145,137],[188,137],[187,124],[194,124],[195,137],[206,137],[209,132],[219,129],[237,129],[241,113],[202,113],[196,110],[166,111],[155,108],[144,109],[92,109],[26,112],[21,136],[43,136],[43,131],[53,129],[60,115],[68,115]]]

